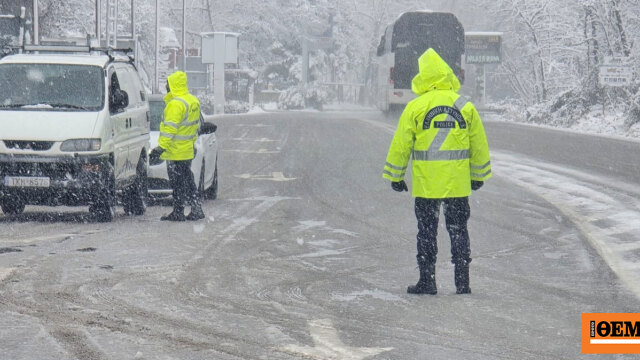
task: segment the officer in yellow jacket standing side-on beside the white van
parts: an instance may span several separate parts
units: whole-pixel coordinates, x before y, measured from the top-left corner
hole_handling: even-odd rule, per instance
[[[204,218],[202,198],[196,187],[191,160],[193,146],[200,126],[200,102],[189,93],[187,74],[176,71],[167,78],[167,95],[164,97],[164,118],[160,124],[158,147],[150,157],[159,156],[167,161],[169,182],[173,189],[173,211],[161,220],[184,221]],[[185,204],[191,205],[191,213],[184,216]]]

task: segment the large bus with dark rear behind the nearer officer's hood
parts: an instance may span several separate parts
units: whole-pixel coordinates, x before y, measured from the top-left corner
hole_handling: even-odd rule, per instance
[[[380,110],[401,110],[415,98],[411,80],[418,74],[418,58],[428,48],[433,48],[463,83],[464,28],[456,16],[405,12],[387,26],[378,46],[374,86]]]

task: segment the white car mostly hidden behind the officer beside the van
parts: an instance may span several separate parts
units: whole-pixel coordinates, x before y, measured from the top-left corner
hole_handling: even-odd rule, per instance
[[[151,110],[150,149],[158,146],[160,123],[164,114],[164,95],[149,96]],[[200,130],[195,143],[195,157],[191,161],[191,171],[200,194],[205,199],[215,199],[218,196],[218,142],[216,140],[217,126],[204,121],[200,116]],[[164,160],[149,161],[149,195],[162,197],[171,195],[172,189],[167,174],[167,164]]]

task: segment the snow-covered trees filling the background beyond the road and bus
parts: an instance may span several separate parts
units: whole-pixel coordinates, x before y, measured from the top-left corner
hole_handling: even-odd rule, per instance
[[[0,0],[0,9],[5,2],[12,3]],[[93,34],[95,3],[39,0],[41,35]],[[102,4],[106,11],[105,1]],[[129,31],[129,4],[130,0],[119,0],[123,33]],[[149,81],[155,56],[155,0],[135,0],[135,6],[142,70]],[[160,6],[161,26],[172,28],[180,42],[182,3],[160,0]],[[503,32],[499,71],[518,102],[561,114],[568,123],[604,96],[625,110],[628,124],[640,119],[637,84],[603,89],[598,83],[605,57],[628,57],[637,67],[638,0],[187,0],[187,48],[200,46],[202,32],[240,33],[239,66],[255,70],[259,86],[285,90],[302,79],[302,39],[330,35],[331,47],[311,53],[313,86],[367,82],[375,76],[375,49],[385,27],[404,11],[425,8],[455,13],[467,30]]]

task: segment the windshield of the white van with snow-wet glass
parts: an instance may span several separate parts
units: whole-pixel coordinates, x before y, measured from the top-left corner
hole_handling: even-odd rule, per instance
[[[104,77],[99,66],[0,65],[0,111],[98,111],[103,107]]]

